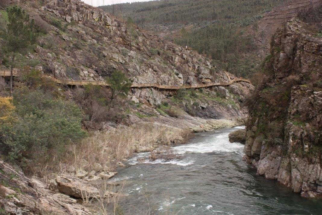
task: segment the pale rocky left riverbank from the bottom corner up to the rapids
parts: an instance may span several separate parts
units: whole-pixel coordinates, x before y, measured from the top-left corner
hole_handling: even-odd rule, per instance
[[[165,119],[159,119],[160,122],[162,120],[166,122]],[[168,124],[141,122],[139,127],[163,126],[168,129],[168,133],[164,134],[164,136],[158,136],[148,144],[146,142],[144,144],[134,144],[132,148],[126,149],[132,151],[122,154],[122,157],[119,157],[119,161],[107,160],[105,165],[93,162],[87,157],[90,160],[89,162],[84,159],[85,157],[81,158],[81,154],[77,154],[81,159],[78,160],[77,164],[71,164],[72,162],[62,164],[63,168],[60,172],[47,173],[43,178],[39,178],[37,176],[26,177],[19,167],[13,167],[4,161],[0,161],[1,208],[10,214],[51,212],[72,215],[100,214],[101,210],[105,209],[102,207],[97,209],[93,205],[103,201],[113,202],[119,198],[119,195],[122,195],[114,192],[115,186],[118,186],[119,183],[110,182],[109,179],[118,174],[117,168],[123,168],[123,162],[127,161],[126,158],[129,158],[134,151],[147,152],[152,151],[160,144],[183,143],[187,138],[186,135],[189,134],[187,131],[210,131],[219,128],[231,128],[240,124],[233,120],[203,120],[198,118],[195,118],[195,120],[194,124],[189,120],[167,120]],[[184,129],[170,125],[175,122],[180,127],[188,125],[192,127],[184,132]],[[127,135],[129,135],[129,130],[126,131]],[[155,132],[155,130],[153,131]],[[121,136],[124,131],[119,128],[114,132]],[[105,135],[108,134],[105,133]],[[135,135],[140,136],[139,131],[136,131]],[[146,130],[145,136],[147,135],[152,135],[152,133],[149,134],[148,130]],[[169,137],[169,135],[172,135],[172,137]],[[96,138],[96,140],[100,142],[99,139]],[[89,147],[101,146],[90,145]],[[80,147],[81,150],[86,151],[84,147]],[[106,148],[105,150],[109,152],[104,152],[100,156],[115,157],[114,153],[121,153],[121,150],[113,152],[111,148]],[[90,202],[93,204],[89,204]]]

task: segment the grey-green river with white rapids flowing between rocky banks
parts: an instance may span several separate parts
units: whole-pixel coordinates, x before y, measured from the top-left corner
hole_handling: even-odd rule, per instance
[[[243,145],[228,140],[239,128],[195,134],[173,147],[181,159],[130,159],[113,179],[125,181],[123,214],[322,214],[321,199],[302,198],[242,161]]]

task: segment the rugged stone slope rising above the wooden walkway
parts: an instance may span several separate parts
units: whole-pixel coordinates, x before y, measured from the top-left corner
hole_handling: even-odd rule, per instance
[[[215,69],[215,65],[211,65],[202,55],[164,42],[152,34],[135,29],[132,33],[135,39],[130,41],[129,29],[124,22],[81,1],[46,0],[44,3],[37,13],[46,14],[47,11],[73,23],[72,26],[68,25],[65,32],[55,29],[70,46],[66,50],[67,56],[64,56],[66,62],[61,65],[49,58],[49,71],[45,72],[67,77],[66,67],[75,66],[81,70],[75,79],[102,80],[118,69],[135,77],[134,82],[137,83],[171,85],[228,80],[223,71],[211,75],[210,70]],[[87,47],[80,51],[73,49],[77,40]],[[49,50],[38,48],[36,55],[47,56]]]

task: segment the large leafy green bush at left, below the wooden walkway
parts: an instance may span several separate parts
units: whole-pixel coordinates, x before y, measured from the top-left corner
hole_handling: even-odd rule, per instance
[[[81,111],[70,101],[55,99],[40,89],[14,92],[13,121],[0,127],[0,151],[11,160],[33,159],[49,152],[63,153],[65,146],[86,135]],[[48,157],[47,157],[48,156]]]

